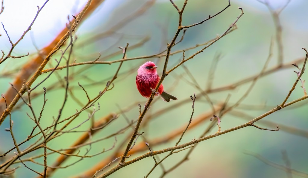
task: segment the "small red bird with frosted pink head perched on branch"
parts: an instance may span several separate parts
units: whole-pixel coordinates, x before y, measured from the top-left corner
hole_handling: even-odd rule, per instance
[[[139,93],[146,98],[149,98],[152,94],[152,90],[155,89],[160,77],[156,71],[157,66],[154,62],[148,61],[141,65],[138,69],[138,74],[136,76],[136,85]],[[164,86],[161,84],[157,90],[156,95],[169,102],[170,100],[177,100],[176,97],[166,93],[164,91]]]

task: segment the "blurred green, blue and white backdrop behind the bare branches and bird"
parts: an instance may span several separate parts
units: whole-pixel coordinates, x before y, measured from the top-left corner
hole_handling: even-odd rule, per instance
[[[179,7],[182,7],[184,1],[174,0],[174,2]],[[0,15],[0,21],[13,42],[20,38],[32,22],[37,12],[37,6],[42,6],[43,3],[44,1],[39,0],[30,2],[4,0],[5,8]],[[31,30],[14,48],[12,53],[18,56],[29,52],[29,56],[20,59],[10,58],[0,65],[0,93],[5,93],[10,88],[9,82],[14,80],[20,68],[37,56],[38,51],[47,46],[59,34],[65,27],[65,23],[67,23],[67,16],[69,15],[71,20],[72,15],[77,14],[85,3],[85,0],[53,0],[46,4]],[[282,8],[287,3],[287,0],[268,0],[268,3],[273,10],[277,10]],[[190,0],[183,14],[183,25],[200,22],[209,15],[221,11],[227,5],[227,0]],[[305,51],[302,48],[308,48],[307,6],[307,1],[291,0],[279,16],[282,25],[284,63],[290,63],[305,57]],[[184,63],[202,89],[205,89],[208,84],[209,71],[213,60],[219,59],[214,73],[213,89],[231,85],[246,77],[260,73],[269,55],[271,38],[274,39],[274,46],[272,60],[268,68],[277,65],[279,50],[275,40],[276,30],[274,21],[269,9],[256,0],[231,0],[231,6],[217,17],[201,25],[189,28],[185,33],[183,41],[174,46],[172,51],[187,49],[223,34],[241,14],[241,10],[238,7],[243,8],[244,15],[237,22],[237,29],[211,45],[204,52]],[[129,43],[127,57],[160,53],[166,49],[166,44],[171,42],[177,30],[177,25],[178,13],[167,0],[159,0],[152,4],[144,0],[105,0],[91,16],[81,22],[76,30],[75,35],[78,38],[74,44],[72,59],[76,59],[76,62],[93,61],[99,56],[99,53],[101,53],[99,61],[121,59],[122,53],[117,47],[125,47],[126,43]],[[7,54],[11,46],[3,28],[0,28],[0,34],[2,35],[0,36],[0,49]],[[202,46],[186,50],[185,56],[188,57],[200,49],[202,49]],[[57,52],[52,57],[50,63],[47,64],[46,69],[54,67],[56,65],[54,59],[59,59],[60,55],[61,53]],[[172,55],[169,59],[168,69],[179,63],[181,59],[181,52]],[[155,62],[158,66],[158,73],[161,75],[164,57],[125,61],[120,69],[119,77],[114,81],[114,88],[99,99],[100,110],[95,113],[95,120],[109,113],[120,113],[120,110],[128,108],[129,110],[125,112],[125,117],[129,120],[138,118],[139,107],[137,105],[138,103],[142,106],[145,105],[147,99],[142,97],[137,91],[135,77],[138,67],[146,61]],[[78,82],[87,90],[90,98],[97,96],[99,91],[105,87],[107,81],[114,75],[119,64],[80,65],[70,68],[70,87],[73,89],[74,96],[83,104],[87,102],[87,97],[78,86]],[[65,65],[64,61],[62,65]],[[302,63],[298,65],[301,67]],[[234,109],[233,113],[227,113],[221,118],[221,130],[241,125],[249,121],[249,118],[251,120],[280,105],[297,78],[296,73],[293,72],[294,70],[298,71],[295,67],[287,67],[258,79],[249,95],[241,102],[241,105]],[[34,85],[42,81],[47,75],[41,75]],[[46,97],[48,101],[41,120],[43,127],[51,125],[52,117],[58,115],[58,110],[64,99],[64,89],[59,80],[63,80],[65,75],[65,69],[58,70],[35,90],[36,92],[43,92],[43,86],[47,88]],[[307,78],[307,73],[304,73],[302,79],[305,80]],[[151,116],[157,111],[174,105],[177,102],[188,100],[182,105],[152,118],[147,125],[139,129],[140,132],[144,131],[145,133],[144,138],[140,137],[137,143],[146,142],[147,139],[164,137],[175,129],[187,125],[192,111],[192,103],[189,96],[194,92],[200,93],[194,85],[187,81],[192,82],[183,67],[177,68],[165,78],[163,82],[164,89],[176,96],[178,100],[166,103],[157,97],[159,100],[151,105],[152,107],[147,116]],[[213,100],[214,105],[218,105],[223,103],[230,94],[229,105],[232,105],[243,96],[250,85],[251,82],[248,82],[232,90],[210,93],[209,97]],[[303,96],[303,89],[300,85],[298,83],[288,101]],[[32,102],[33,107],[36,109],[35,111],[39,114],[43,104],[43,95],[40,94],[38,97],[35,97]],[[170,172],[166,177],[290,177],[285,171],[267,165],[254,156],[245,154],[247,152],[259,154],[266,160],[283,166],[286,162],[286,158],[283,158],[283,155],[287,156],[291,168],[300,172],[306,172],[307,176],[307,102],[305,100],[301,101],[255,123],[260,127],[268,129],[275,129],[275,125],[281,126],[279,131],[272,132],[255,127],[246,127],[197,144],[197,147],[189,156],[189,160]],[[35,124],[26,115],[26,112],[29,113],[30,111],[29,108],[22,105],[21,101],[19,101],[17,106],[18,108],[13,110],[12,120],[14,121],[13,132],[19,143],[26,139]],[[75,109],[79,110],[80,108],[81,106],[72,97],[71,93],[64,108],[63,118],[70,116],[75,112]],[[197,94],[193,121],[194,118],[210,111],[211,107],[206,102],[205,97]],[[102,138],[115,133],[127,125],[125,117],[121,114],[118,119],[93,136],[92,139]],[[75,120],[76,124],[71,125],[67,129],[73,128],[86,119],[87,113],[81,114],[79,119]],[[197,139],[210,125],[209,119],[210,117],[197,127],[187,131],[180,143]],[[78,130],[86,130],[90,124],[90,122],[87,122],[79,127]],[[0,127],[0,152],[6,152],[14,146],[10,133],[5,131],[8,127],[9,121],[6,119]],[[126,134],[130,134],[131,130],[128,129],[124,134],[117,136],[116,148],[125,138]],[[215,132],[217,132],[216,126],[209,134]],[[81,134],[63,134],[63,136],[48,142],[48,146],[53,149],[67,148]],[[174,146],[178,138],[179,136],[169,140],[167,143],[154,145],[152,150]],[[111,137],[102,142],[92,144],[91,154],[100,152],[103,148],[111,148],[114,140]],[[33,142],[29,141],[30,143]],[[22,145],[21,149],[25,149],[26,146]],[[84,172],[93,168],[101,160],[104,160],[114,150],[95,157],[85,158],[73,166],[58,169],[52,177],[62,178],[83,175]],[[80,151],[85,152],[85,148],[82,148]],[[172,167],[185,156],[187,151],[176,153],[167,158],[163,162],[164,167],[167,169]],[[138,152],[128,160],[146,152],[148,150]],[[282,154],[282,152],[285,153]],[[22,159],[42,153],[42,150],[37,150],[22,157]],[[7,157],[13,155],[14,153],[10,153]],[[158,157],[161,159],[164,155],[166,154],[159,155]],[[48,165],[52,164],[57,156],[59,155],[50,155],[48,157]],[[1,159],[1,161],[4,161],[6,157]],[[64,165],[68,165],[76,159],[71,158]],[[39,159],[38,161],[42,160]],[[29,162],[27,164],[39,172],[43,170],[43,167],[40,165]],[[110,177],[144,177],[153,165],[153,159],[148,157],[120,169]],[[112,167],[113,165],[109,168]],[[161,173],[162,170],[158,167],[149,177],[159,177]],[[15,172],[15,176],[30,178],[37,175],[21,165]],[[303,176],[292,174],[292,177]]]

